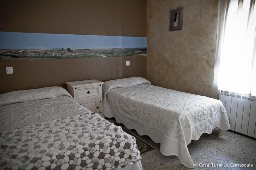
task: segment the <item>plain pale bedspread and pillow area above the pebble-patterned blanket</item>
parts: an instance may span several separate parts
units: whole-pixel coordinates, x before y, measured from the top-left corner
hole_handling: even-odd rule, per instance
[[[74,101],[62,87],[0,94],[0,132],[83,113],[92,112]]]

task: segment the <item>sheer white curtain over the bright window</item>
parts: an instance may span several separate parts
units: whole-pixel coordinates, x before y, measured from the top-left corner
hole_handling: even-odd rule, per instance
[[[256,95],[255,0],[219,0],[214,85]]]

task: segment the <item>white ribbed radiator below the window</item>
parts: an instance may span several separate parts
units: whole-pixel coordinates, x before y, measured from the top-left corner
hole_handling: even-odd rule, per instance
[[[255,97],[221,91],[219,99],[227,111],[230,130],[256,138]]]

